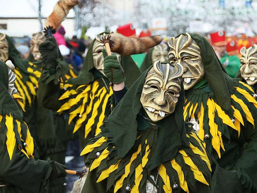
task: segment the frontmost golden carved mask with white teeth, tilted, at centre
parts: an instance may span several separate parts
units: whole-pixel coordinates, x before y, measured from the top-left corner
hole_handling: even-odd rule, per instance
[[[140,97],[147,115],[157,122],[173,113],[181,91],[183,67],[154,62],[148,72]]]

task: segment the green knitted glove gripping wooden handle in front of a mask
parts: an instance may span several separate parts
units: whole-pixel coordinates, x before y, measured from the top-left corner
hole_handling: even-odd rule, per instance
[[[104,56],[104,74],[114,84],[123,82],[125,78],[124,70],[117,60],[116,55],[108,56],[106,49],[102,49]]]

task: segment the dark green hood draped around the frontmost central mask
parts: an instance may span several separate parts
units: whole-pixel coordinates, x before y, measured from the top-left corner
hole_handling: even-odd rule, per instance
[[[151,67],[134,82],[101,126],[103,136],[109,137],[117,148],[117,159],[123,158],[135,143],[137,136],[136,118],[142,107],[140,97],[145,78]],[[182,86],[175,112],[160,121],[162,127],[158,131],[158,139],[156,139],[156,148],[152,152],[152,159],[146,166],[148,171],[163,162],[172,160],[182,145],[189,145],[183,121],[184,97]]]

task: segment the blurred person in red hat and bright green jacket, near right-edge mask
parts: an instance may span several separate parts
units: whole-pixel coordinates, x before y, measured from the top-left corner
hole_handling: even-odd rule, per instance
[[[240,68],[240,61],[237,56],[238,54],[236,42],[234,40],[228,40],[226,52],[220,61],[231,78],[236,77],[236,74]]]

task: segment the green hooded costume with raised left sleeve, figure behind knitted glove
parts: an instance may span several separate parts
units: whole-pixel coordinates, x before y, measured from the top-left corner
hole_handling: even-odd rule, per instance
[[[63,73],[62,65],[56,60],[56,56],[49,60],[56,60],[57,62],[53,63],[52,66],[47,65],[43,69],[38,90],[38,98],[44,107],[59,109],[57,112],[69,114],[69,124],[72,121],[75,123],[73,132],[79,131],[81,147],[85,147],[88,139],[100,132],[99,127],[103,124],[105,109],[109,97],[112,95],[109,80],[94,68],[92,47],[95,41],[93,40],[89,46],[78,77],[69,79],[62,87],[65,90],[64,94],[57,81]],[[44,43],[39,45],[41,54],[48,48],[49,46],[44,45]],[[49,54],[46,56],[49,57]],[[141,72],[132,58],[128,56],[121,57],[121,66],[126,76],[126,86],[130,87]]]

